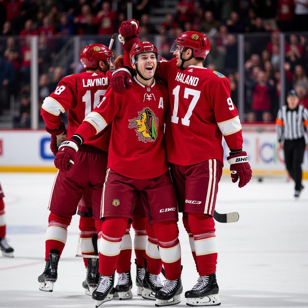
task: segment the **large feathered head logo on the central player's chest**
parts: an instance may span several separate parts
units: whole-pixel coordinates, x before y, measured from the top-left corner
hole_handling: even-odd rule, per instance
[[[136,135],[139,141],[147,143],[156,140],[159,120],[149,107],[138,112],[138,118],[128,121],[129,128],[136,128]]]

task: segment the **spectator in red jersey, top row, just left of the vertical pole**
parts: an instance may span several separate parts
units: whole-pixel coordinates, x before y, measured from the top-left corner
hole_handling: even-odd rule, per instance
[[[109,2],[102,3],[102,9],[97,13],[96,18],[99,23],[99,34],[113,34],[117,21],[117,14],[111,10]]]

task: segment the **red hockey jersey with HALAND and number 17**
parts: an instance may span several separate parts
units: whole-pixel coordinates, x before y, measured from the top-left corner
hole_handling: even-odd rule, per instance
[[[165,130],[169,162],[192,165],[218,159],[223,163],[222,136],[230,149],[242,148],[241,123],[228,78],[194,65],[181,70],[176,58],[161,61],[157,75],[169,91]]]

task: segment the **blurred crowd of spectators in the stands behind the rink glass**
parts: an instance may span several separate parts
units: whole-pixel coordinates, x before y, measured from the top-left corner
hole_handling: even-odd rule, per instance
[[[286,91],[295,88],[300,103],[308,107],[308,0],[0,0],[0,128],[30,127],[33,35],[39,36],[41,105],[61,78],[83,70],[70,52],[73,36],[81,38],[81,47],[95,42],[108,45],[110,35],[127,19],[128,2],[133,18],[140,21],[140,39],[157,44],[167,59],[173,57],[169,50],[181,32],[207,34],[211,51],[204,66],[229,78],[235,104],[238,37],[244,35],[242,122],[274,121],[281,78]],[[285,33],[284,46],[280,33]],[[115,56],[118,53],[114,50]]]

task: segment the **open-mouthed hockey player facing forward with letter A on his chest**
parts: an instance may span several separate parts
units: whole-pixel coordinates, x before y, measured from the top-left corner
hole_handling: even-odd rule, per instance
[[[153,78],[159,54],[152,43],[136,44],[130,59],[138,73],[131,89],[125,94],[108,89],[71,139],[60,145],[55,157],[55,166],[60,170],[67,170],[68,164],[72,167],[70,161],[77,159],[83,142],[113,121],[100,214],[104,219],[99,247],[101,276],[92,293],[96,307],[113,297],[120,240],[132,218],[136,192],[141,192],[167,278],[155,294],[156,306],[177,304],[182,293],[176,199],[163,144],[168,92],[164,84]]]

